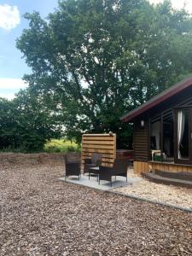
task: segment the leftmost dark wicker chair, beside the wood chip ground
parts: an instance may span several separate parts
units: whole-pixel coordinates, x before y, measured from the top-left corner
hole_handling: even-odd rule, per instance
[[[81,163],[78,160],[68,160],[67,154],[64,155],[65,166],[66,166],[66,177],[79,176],[81,175]]]

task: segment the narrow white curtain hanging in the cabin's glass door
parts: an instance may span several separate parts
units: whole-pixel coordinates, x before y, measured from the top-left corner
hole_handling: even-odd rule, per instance
[[[177,112],[177,152],[178,152],[178,159],[182,158],[180,152],[180,145],[182,143],[184,133],[184,113],[183,110],[178,110]]]

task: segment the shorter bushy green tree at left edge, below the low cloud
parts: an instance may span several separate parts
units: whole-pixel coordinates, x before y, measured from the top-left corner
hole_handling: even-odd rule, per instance
[[[0,149],[41,151],[44,143],[60,134],[54,113],[29,90],[12,101],[0,98]]]

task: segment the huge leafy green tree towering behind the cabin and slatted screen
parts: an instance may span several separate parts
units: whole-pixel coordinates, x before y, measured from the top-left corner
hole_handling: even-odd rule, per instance
[[[114,131],[119,117],[192,70],[192,20],[169,1],[63,0],[47,20],[26,14],[17,47],[30,90],[56,113],[67,135]]]

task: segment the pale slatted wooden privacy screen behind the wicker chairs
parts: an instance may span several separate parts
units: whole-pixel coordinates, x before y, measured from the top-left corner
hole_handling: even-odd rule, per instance
[[[82,136],[81,160],[90,158],[93,153],[102,154],[102,166],[113,166],[116,158],[116,134],[84,134]]]

